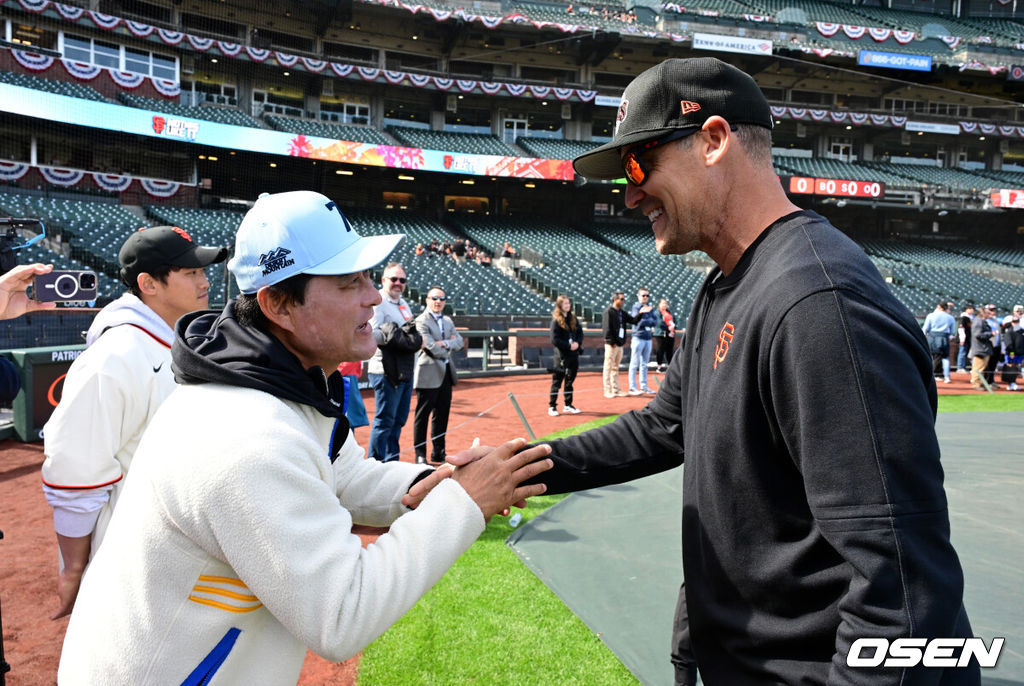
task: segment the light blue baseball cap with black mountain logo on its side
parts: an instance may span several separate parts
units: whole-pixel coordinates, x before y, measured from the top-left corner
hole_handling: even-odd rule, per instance
[[[295,274],[350,274],[380,264],[406,235],[361,237],[330,198],[263,194],[246,213],[227,268],[252,294]]]

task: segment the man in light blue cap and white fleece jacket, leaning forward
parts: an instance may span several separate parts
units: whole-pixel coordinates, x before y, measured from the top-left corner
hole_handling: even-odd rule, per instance
[[[488,517],[544,491],[519,483],[548,448],[513,457],[518,439],[458,470],[364,459],[335,370],[373,354],[367,270],[401,238],[360,238],[311,191],[256,202],[228,263],[243,295],[175,329],[180,385],[85,574],[58,683],[294,684],[306,648],[355,654]],[[364,549],[353,523],[391,528]]]

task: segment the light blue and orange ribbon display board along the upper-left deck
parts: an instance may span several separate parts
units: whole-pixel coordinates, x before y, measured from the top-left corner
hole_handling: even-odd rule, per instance
[[[427,172],[555,181],[572,180],[572,162],[569,160],[465,155],[318,138],[285,131],[231,126],[110,102],[83,100],[2,83],[0,83],[0,112],[76,126],[267,155],[287,155]]]

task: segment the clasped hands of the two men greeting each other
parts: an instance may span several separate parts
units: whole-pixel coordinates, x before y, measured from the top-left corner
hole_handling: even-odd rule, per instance
[[[479,439],[472,447],[447,458],[433,474],[421,479],[401,499],[402,505],[416,508],[434,486],[444,479],[459,482],[489,521],[496,514],[508,514],[509,508],[526,506],[526,499],[540,496],[548,489],[543,483],[522,485],[538,474],[554,466],[547,459],[551,446],[547,444],[525,447],[523,438],[515,438],[498,447],[480,445]]]

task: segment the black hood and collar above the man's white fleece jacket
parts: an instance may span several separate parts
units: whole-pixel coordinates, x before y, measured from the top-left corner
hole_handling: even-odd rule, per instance
[[[318,366],[304,369],[274,336],[239,324],[233,300],[222,312],[191,312],[178,319],[171,360],[179,384],[253,388],[345,421],[345,384],[337,370],[328,376]],[[347,422],[344,428],[339,435],[348,433]]]

